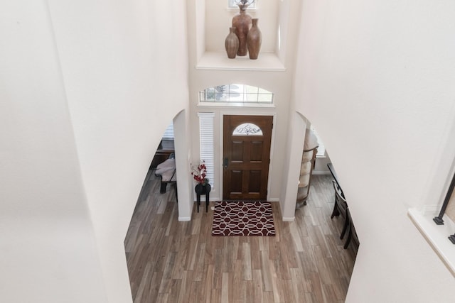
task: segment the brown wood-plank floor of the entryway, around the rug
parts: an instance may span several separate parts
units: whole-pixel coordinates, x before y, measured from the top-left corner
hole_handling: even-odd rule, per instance
[[[331,176],[314,176],[294,222],[272,203],[277,236],[213,237],[210,208],[177,221],[174,188],[160,194],[149,175],[125,238],[135,303],[344,302],[357,248],[343,249],[342,219],[330,219]]]

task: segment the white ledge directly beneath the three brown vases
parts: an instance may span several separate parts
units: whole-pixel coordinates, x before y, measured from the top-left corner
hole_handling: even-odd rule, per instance
[[[285,71],[281,60],[275,53],[259,53],[256,60],[251,60],[248,55],[229,59],[226,53],[205,52],[196,70],[263,70],[263,71]]]

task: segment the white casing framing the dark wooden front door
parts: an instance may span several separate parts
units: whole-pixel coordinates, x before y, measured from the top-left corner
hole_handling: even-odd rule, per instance
[[[223,134],[223,121],[225,119],[225,116],[272,116],[272,138],[270,138],[270,163],[269,163],[269,170],[267,172],[268,178],[267,178],[267,201],[269,202],[277,202],[277,201],[271,201],[269,199],[270,195],[270,184],[272,182],[272,166],[273,166],[273,157],[274,157],[274,143],[275,143],[275,130],[276,130],[276,120],[277,120],[277,114],[276,113],[250,113],[250,112],[242,112],[236,113],[232,111],[220,111],[220,119],[218,121],[218,127],[219,127],[219,136],[220,138],[220,148],[218,150],[218,159],[220,159],[220,162],[218,163],[218,167],[220,169],[220,199],[223,199],[223,182],[224,182],[224,176],[223,176],[223,150],[224,150],[224,134]]]

